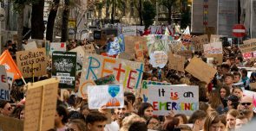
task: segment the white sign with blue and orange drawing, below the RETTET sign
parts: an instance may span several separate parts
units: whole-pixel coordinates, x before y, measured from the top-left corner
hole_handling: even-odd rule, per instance
[[[122,85],[90,85],[88,86],[89,109],[122,108],[124,104]]]

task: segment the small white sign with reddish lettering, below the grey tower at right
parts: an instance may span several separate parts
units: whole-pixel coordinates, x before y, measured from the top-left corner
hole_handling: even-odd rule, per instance
[[[204,45],[205,54],[216,54],[222,53],[222,42],[213,42]]]

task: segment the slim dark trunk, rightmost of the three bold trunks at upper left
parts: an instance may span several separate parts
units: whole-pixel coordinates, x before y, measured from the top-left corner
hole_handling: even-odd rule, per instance
[[[68,23],[69,23],[69,0],[65,0],[65,5],[62,13],[62,42],[68,41]]]

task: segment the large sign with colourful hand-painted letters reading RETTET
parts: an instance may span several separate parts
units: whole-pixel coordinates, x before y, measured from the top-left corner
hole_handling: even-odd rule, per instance
[[[96,54],[87,54],[82,67],[82,85],[86,80],[95,80],[114,74],[124,90],[137,89],[141,85],[143,63],[125,59],[115,59]]]

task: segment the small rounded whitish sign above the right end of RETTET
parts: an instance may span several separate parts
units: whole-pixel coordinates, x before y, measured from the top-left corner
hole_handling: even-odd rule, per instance
[[[151,53],[149,57],[149,63],[153,67],[163,68],[165,65],[167,65],[167,53],[164,51],[154,51],[154,53]]]

